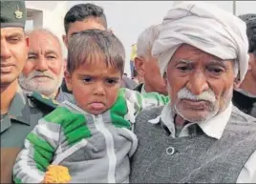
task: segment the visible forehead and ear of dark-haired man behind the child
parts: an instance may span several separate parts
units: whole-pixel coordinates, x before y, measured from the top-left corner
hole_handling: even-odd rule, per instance
[[[69,26],[69,31],[67,35],[63,35],[63,42],[65,43],[66,47],[68,46],[69,38],[74,32],[77,31],[85,31],[85,30],[106,30],[102,24],[96,18],[88,18],[83,21],[75,21],[71,23]]]

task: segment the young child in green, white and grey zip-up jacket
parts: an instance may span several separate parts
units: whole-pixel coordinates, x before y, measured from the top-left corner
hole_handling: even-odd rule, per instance
[[[124,63],[124,48],[113,33],[72,36],[65,79],[75,104],[64,102],[39,120],[17,157],[15,182],[45,182],[51,164],[67,167],[72,183],[129,182],[129,157],[138,146],[135,116],[169,99],[120,89]]]

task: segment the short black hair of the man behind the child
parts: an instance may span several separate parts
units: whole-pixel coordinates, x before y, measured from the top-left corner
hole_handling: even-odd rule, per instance
[[[69,31],[71,23],[89,18],[96,18],[96,20],[107,29],[107,19],[104,10],[94,4],[86,3],[77,4],[66,13],[64,18],[64,28],[66,33]]]

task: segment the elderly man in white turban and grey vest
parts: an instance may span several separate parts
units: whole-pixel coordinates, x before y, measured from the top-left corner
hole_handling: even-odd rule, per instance
[[[170,104],[140,112],[132,183],[255,183],[256,119],[232,105],[245,77],[245,23],[217,7],[179,2],[152,53]]]

